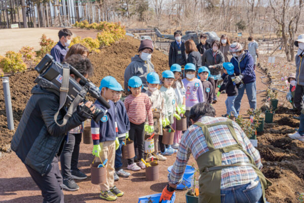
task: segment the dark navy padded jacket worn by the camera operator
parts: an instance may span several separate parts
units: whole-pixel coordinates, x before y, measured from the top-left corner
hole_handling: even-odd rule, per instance
[[[43,176],[50,172],[51,162],[58,153],[65,134],[86,118],[75,112],[66,125],[59,127],[54,120],[59,108],[59,96],[39,85],[34,86],[31,93],[11,148],[23,163]],[[65,111],[61,111],[57,120],[62,120],[64,115]]]

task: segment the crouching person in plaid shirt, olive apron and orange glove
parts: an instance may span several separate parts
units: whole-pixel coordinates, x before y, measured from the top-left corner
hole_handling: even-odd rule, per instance
[[[258,151],[236,122],[214,116],[208,103],[191,108],[193,125],[181,138],[161,200],[173,195],[192,153],[200,171],[199,202],[267,202],[264,190],[271,182],[260,172]]]

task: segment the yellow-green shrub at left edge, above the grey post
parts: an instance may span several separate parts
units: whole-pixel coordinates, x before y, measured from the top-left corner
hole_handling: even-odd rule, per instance
[[[0,58],[0,66],[4,73],[17,73],[26,70],[26,65],[22,60],[22,54],[8,51],[5,57]]]

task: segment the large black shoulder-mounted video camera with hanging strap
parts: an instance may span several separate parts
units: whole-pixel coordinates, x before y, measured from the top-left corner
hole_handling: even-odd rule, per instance
[[[66,90],[62,90],[63,83],[63,69],[69,69],[69,74],[73,74],[76,77],[80,78],[80,82],[78,83],[68,74],[68,88]],[[71,117],[72,113],[75,111],[77,106],[83,102],[84,104],[87,102],[85,96],[87,93],[90,93],[93,97],[95,97],[103,106],[107,109],[110,108],[109,104],[104,100],[100,95],[100,90],[96,87],[92,82],[87,80],[81,73],[79,73],[74,67],[72,67],[68,63],[59,63],[56,62],[53,57],[47,54],[35,67],[35,70],[40,74],[36,79],[35,83],[39,84],[41,87],[46,88],[57,95],[60,96],[60,103],[62,99],[65,100],[64,106],[68,108],[67,117]],[[66,91],[66,98],[61,98],[61,92]],[[64,102],[64,101],[63,101]],[[83,104],[83,105],[84,105]],[[62,105],[62,104],[60,104]],[[61,108],[59,107],[59,110]],[[57,113],[59,113],[59,110]],[[99,122],[100,119],[106,114],[107,110],[103,110],[95,107],[95,113],[93,115],[93,119],[95,122]],[[57,114],[58,115],[58,114]],[[63,119],[62,124],[57,123],[57,116],[55,115],[55,121],[59,126],[63,126],[67,122],[66,119]]]

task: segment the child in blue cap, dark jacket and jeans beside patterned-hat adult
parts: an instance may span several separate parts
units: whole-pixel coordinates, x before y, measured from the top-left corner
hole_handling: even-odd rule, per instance
[[[224,78],[223,84],[220,86],[217,97],[219,96],[220,92],[225,90],[227,93],[227,99],[225,101],[227,113],[222,115],[223,117],[229,116],[233,120],[238,117],[238,113],[234,107],[234,101],[238,95],[238,87],[241,83],[236,84],[235,79],[236,75],[234,73],[234,65],[231,62],[224,62],[223,63],[223,70],[224,73],[227,74]]]

